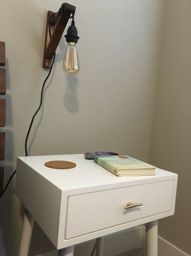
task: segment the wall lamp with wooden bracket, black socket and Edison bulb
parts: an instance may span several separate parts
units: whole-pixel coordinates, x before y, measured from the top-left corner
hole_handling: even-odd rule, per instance
[[[70,74],[79,72],[79,59],[76,49],[76,43],[79,37],[74,21],[75,10],[75,6],[64,3],[57,13],[48,11],[43,59],[44,68],[51,68],[52,59],[56,53],[58,43],[60,42],[68,20],[72,19],[72,23],[67,30],[67,35],[65,35],[67,47],[64,54],[63,70]]]

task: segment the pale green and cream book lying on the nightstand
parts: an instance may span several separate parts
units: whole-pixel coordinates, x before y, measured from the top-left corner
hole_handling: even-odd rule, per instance
[[[155,175],[156,167],[127,155],[94,156],[94,162],[116,176]]]

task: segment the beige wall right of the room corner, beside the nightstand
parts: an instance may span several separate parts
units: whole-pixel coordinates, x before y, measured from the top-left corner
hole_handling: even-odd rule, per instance
[[[191,255],[191,1],[167,0],[150,161],[178,173],[175,215],[159,234]]]

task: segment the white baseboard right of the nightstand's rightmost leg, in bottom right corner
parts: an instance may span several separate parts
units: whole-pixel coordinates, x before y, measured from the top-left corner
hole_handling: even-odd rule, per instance
[[[190,256],[179,249],[177,246],[172,245],[161,236],[158,236],[158,256]]]

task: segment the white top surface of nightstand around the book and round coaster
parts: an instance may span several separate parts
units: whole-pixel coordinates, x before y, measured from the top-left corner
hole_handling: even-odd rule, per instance
[[[21,156],[17,159],[18,163],[20,161],[63,191],[103,185],[104,188],[107,185],[110,187],[111,185],[122,187],[123,184],[127,185],[127,182],[128,185],[152,183],[172,179],[172,176],[177,176],[177,174],[170,171],[157,168],[156,175],[154,176],[118,177],[96,164],[93,160],[85,159],[83,154]],[[76,167],[65,170],[48,168],[45,166],[47,161],[71,161],[75,162]]]

